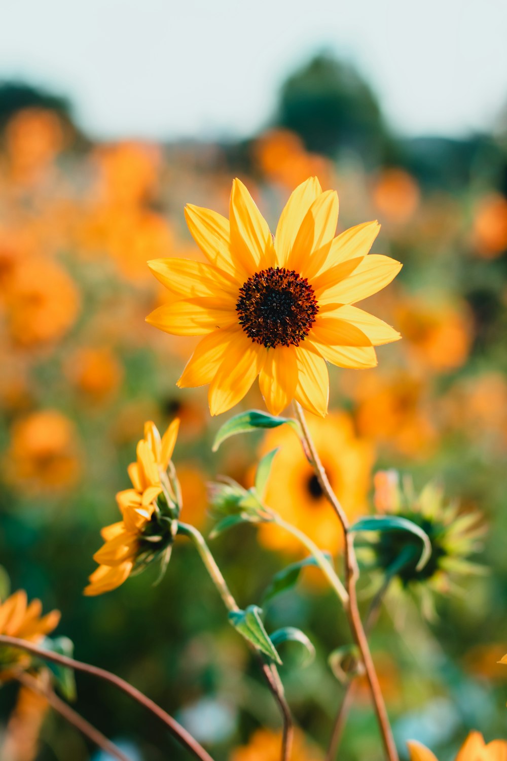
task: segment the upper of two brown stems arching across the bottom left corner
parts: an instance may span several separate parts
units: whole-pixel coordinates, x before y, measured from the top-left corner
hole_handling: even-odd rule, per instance
[[[151,711],[152,714],[160,719],[160,721],[162,721],[163,724],[165,724],[169,729],[173,737],[176,737],[176,740],[179,740],[179,743],[184,745],[187,750],[193,753],[195,758],[201,759],[201,761],[213,761],[210,754],[204,750],[203,747],[201,747],[198,741],[195,740],[192,735],[182,727],[181,724],[178,724],[176,719],[173,719],[173,717],[166,713],[163,708],[160,708],[160,705],[157,705],[157,703],[141,693],[140,690],[133,687],[132,684],[125,682],[122,677],[117,677],[115,673],[111,673],[110,671],[106,671],[105,669],[99,668],[97,666],[84,664],[81,661],[74,661],[74,658],[68,658],[66,655],[52,653],[49,650],[40,648],[38,645],[33,645],[31,642],[27,642],[25,639],[18,639],[17,637],[0,635],[0,645],[24,650],[27,653],[36,655],[38,658],[42,658],[43,661],[52,661],[52,663],[66,666],[68,668],[74,669],[75,671],[83,671],[84,673],[89,673],[92,677],[97,677],[104,682],[113,684],[118,689],[121,689],[123,693],[131,697],[133,700],[137,701],[140,705],[144,705],[144,708],[147,708],[148,711]]]

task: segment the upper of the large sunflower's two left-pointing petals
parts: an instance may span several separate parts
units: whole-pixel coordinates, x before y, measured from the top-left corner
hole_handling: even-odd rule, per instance
[[[237,299],[237,282],[212,264],[192,259],[153,259],[147,266],[162,285],[185,298],[211,296],[220,301],[225,292]]]

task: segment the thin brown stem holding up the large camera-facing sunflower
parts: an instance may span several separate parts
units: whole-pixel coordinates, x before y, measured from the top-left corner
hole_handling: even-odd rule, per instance
[[[329,483],[328,476],[325,473],[324,467],[318,452],[315,448],[315,444],[312,440],[308,425],[306,423],[305,414],[302,406],[298,402],[294,402],[296,409],[296,417],[299,420],[299,424],[303,430],[303,437],[306,444],[306,454],[309,459],[309,463],[312,465],[317,476],[318,482],[324,492],[325,497],[330,503],[331,507],[337,515],[338,521],[341,523],[341,527],[344,530],[345,536],[345,585],[349,595],[347,606],[345,611],[350,622],[350,629],[353,633],[353,638],[356,641],[356,645],[360,649],[361,658],[366,670],[366,678],[369,683],[369,689],[372,694],[372,701],[375,708],[375,714],[379,722],[379,729],[382,734],[382,742],[384,743],[385,753],[389,761],[398,761],[398,751],[396,750],[395,740],[392,735],[391,724],[389,724],[389,718],[387,709],[385,708],[384,697],[382,696],[382,690],[379,685],[379,678],[375,671],[375,665],[373,664],[372,654],[369,650],[368,639],[361,621],[359,607],[357,603],[356,582],[359,576],[359,570],[357,568],[356,552],[353,547],[353,535],[350,533],[350,524],[345,514],[344,508],[341,506],[340,501],[334,494],[331,484]]]

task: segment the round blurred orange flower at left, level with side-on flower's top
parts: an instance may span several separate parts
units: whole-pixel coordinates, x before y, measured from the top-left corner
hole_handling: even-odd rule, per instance
[[[72,486],[80,463],[74,424],[55,409],[17,420],[3,462],[8,482],[28,495]]]

